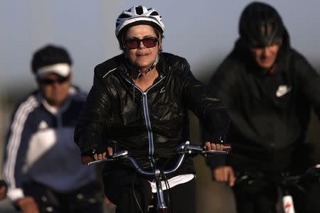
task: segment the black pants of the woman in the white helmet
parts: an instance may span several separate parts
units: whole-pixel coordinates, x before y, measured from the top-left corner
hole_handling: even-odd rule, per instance
[[[105,194],[117,205],[116,213],[146,212],[151,203],[151,187],[148,180],[132,170],[117,170],[104,173]],[[169,212],[196,212],[196,180],[164,190]],[[155,197],[156,199],[156,197]]]

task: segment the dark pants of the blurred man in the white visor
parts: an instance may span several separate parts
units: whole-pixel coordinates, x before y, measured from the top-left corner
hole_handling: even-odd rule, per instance
[[[92,182],[78,190],[60,193],[36,182],[24,187],[26,196],[33,197],[41,213],[103,212],[100,185]]]

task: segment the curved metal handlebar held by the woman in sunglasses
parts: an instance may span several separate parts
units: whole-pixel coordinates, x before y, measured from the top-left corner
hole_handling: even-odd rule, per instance
[[[183,144],[181,144],[181,146],[178,146],[178,148],[176,148],[175,153],[179,154],[180,156],[179,156],[174,168],[171,168],[169,170],[163,170],[162,172],[164,174],[174,173],[181,166],[186,154],[191,154],[191,153],[196,153],[197,155],[198,154],[201,154],[201,155],[211,155],[211,154],[225,155],[225,154],[228,154],[231,149],[230,144],[225,144],[223,146],[224,146],[224,148],[223,148],[224,151],[213,151],[213,150],[209,151],[204,147],[192,145],[192,144],[190,144],[189,141],[186,141],[186,143],[183,143]],[[112,155],[112,158],[95,160],[90,163],[87,163],[87,165],[106,163],[108,161],[120,160],[120,159],[124,159],[124,158],[129,159],[129,161],[132,163],[134,168],[142,175],[153,176],[157,172],[156,170],[148,171],[148,170],[144,170],[143,168],[141,168],[139,163],[137,163],[137,160],[135,160],[132,156],[130,156],[128,151],[119,151],[117,153],[114,153],[114,155]]]

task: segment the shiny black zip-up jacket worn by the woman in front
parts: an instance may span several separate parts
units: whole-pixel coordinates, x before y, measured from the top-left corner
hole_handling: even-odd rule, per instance
[[[193,77],[186,59],[161,53],[156,68],[159,77],[142,92],[134,86],[132,67],[124,55],[95,67],[94,83],[75,129],[75,142],[82,151],[117,141],[119,150],[144,159],[144,167],[150,166],[148,157],[163,165],[171,158],[166,154],[190,139],[188,109],[216,138],[225,135],[229,125],[225,107]],[[166,163],[166,168],[173,163]],[[194,173],[190,158],[179,173]]]

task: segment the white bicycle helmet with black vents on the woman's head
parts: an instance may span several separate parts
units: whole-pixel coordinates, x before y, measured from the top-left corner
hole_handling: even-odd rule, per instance
[[[152,8],[147,9],[145,6],[132,6],[132,8],[122,11],[117,18],[115,28],[117,38],[122,30],[138,24],[154,26],[160,33],[164,33],[164,23],[158,11]]]

